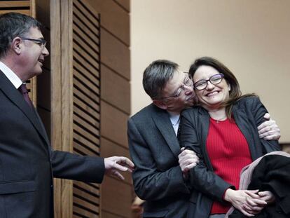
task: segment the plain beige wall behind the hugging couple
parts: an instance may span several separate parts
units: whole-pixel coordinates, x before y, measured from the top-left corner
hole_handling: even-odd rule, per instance
[[[257,93],[290,142],[289,0],[131,0],[132,114],[151,102],[141,85],[145,67],[169,59],[188,67],[208,55]],[[288,112],[288,113],[287,113]]]

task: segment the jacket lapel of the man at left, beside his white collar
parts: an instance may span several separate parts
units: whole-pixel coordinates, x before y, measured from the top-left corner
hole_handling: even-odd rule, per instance
[[[4,75],[2,71],[0,71],[0,89],[11,100],[11,102],[13,102],[23,112],[23,114],[27,116],[32,125],[34,125],[34,128],[36,128],[39,134],[49,145],[46,131],[43,130],[43,128],[41,127],[41,121],[39,121],[38,117],[36,116],[37,112],[34,112],[34,109],[29,107],[21,93],[13,86],[11,81],[9,81],[9,79]]]

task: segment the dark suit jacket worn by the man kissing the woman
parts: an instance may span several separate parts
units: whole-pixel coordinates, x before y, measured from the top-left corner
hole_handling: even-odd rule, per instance
[[[167,111],[153,104],[128,121],[134,190],[144,217],[186,217],[190,190],[179,168],[179,142]]]

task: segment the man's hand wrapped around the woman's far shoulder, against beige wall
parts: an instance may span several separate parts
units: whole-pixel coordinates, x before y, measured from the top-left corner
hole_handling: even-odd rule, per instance
[[[271,119],[270,114],[265,114],[264,118],[267,121],[258,126],[259,137],[265,140],[278,140],[281,137],[278,125]]]

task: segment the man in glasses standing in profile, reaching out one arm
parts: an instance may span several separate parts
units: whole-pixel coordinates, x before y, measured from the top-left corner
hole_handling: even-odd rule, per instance
[[[41,24],[27,15],[0,15],[0,217],[53,217],[53,177],[102,182],[132,172],[125,157],[95,158],[52,151],[25,81],[49,55]]]

